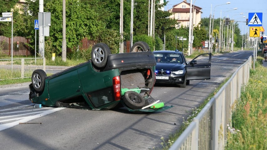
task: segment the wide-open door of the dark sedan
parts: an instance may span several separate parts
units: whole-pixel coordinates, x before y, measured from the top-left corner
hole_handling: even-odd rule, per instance
[[[186,64],[186,80],[211,78],[211,53],[200,54]]]

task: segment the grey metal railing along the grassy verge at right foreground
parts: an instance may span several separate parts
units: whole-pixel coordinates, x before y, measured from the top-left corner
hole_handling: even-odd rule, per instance
[[[241,87],[249,80],[250,69],[251,56],[211,98],[169,150],[223,150],[232,108],[241,95]]]

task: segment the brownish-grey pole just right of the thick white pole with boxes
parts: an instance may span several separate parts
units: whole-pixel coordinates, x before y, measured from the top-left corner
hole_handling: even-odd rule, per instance
[[[66,62],[67,55],[66,44],[66,0],[63,0],[62,6],[62,61]]]

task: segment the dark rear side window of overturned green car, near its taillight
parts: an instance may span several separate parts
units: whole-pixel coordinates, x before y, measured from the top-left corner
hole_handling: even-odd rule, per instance
[[[112,88],[86,93],[95,108],[114,101]]]

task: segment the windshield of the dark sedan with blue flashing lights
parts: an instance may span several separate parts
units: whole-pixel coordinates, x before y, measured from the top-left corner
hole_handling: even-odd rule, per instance
[[[156,53],[154,56],[157,63],[183,63],[181,54]]]

